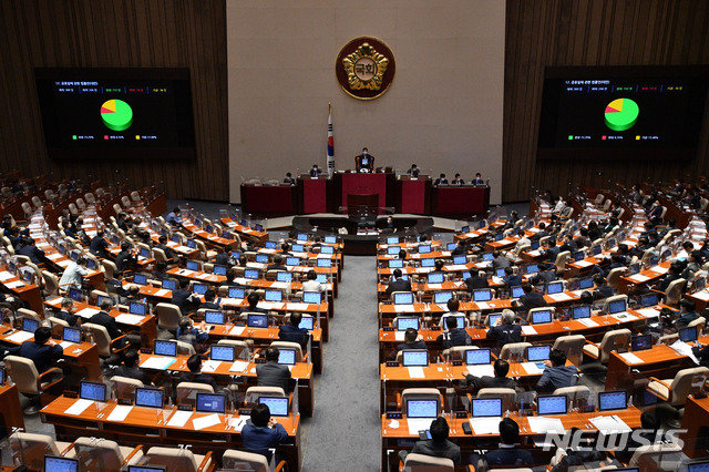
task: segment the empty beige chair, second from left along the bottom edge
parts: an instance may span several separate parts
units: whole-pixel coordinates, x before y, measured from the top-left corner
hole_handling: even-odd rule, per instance
[[[81,471],[117,471],[126,465],[137,465],[143,460],[143,450],[121,447],[115,441],[101,438],[76,438],[74,453]]]

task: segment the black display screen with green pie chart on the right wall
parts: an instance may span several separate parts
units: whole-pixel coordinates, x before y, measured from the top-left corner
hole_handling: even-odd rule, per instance
[[[540,157],[692,157],[707,68],[547,68]]]

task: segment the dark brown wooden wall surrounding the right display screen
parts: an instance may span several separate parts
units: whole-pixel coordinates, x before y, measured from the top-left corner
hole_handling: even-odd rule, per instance
[[[709,113],[690,161],[536,160],[545,66],[708,64],[709,0],[507,0],[506,14],[503,201],[709,175]]]

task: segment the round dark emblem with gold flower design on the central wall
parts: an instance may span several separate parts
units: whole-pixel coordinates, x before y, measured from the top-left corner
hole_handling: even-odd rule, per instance
[[[335,62],[342,90],[359,100],[377,99],[389,90],[397,66],[394,55],[377,38],[362,37],[345,44]]]

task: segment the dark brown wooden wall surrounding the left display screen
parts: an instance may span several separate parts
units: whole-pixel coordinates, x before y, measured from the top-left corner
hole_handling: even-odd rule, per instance
[[[35,66],[188,68],[197,158],[52,161]],[[155,184],[173,198],[228,199],[225,0],[0,2],[0,172]]]

